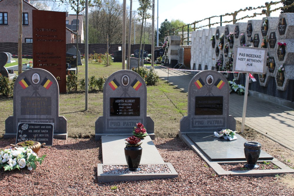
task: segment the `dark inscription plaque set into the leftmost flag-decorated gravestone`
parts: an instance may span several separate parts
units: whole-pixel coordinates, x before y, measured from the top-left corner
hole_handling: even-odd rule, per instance
[[[51,97],[21,97],[21,115],[51,115]]]

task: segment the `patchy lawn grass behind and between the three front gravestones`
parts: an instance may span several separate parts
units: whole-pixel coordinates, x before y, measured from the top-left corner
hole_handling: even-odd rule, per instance
[[[121,63],[111,66],[88,65],[88,77],[110,76],[121,70]],[[78,80],[85,78],[85,66],[78,66]],[[85,111],[85,92],[60,94],[59,115],[67,119],[68,135],[72,138],[90,138],[95,134],[95,121],[103,115],[103,91],[88,94],[88,110]],[[178,134],[180,120],[187,115],[188,93],[181,91],[166,81],[157,86],[147,86],[147,115],[154,121],[156,137],[173,138]],[[13,115],[13,98],[0,97],[0,137],[5,133],[5,120]],[[131,130],[130,130],[131,132]],[[147,130],[148,132],[148,130]]]

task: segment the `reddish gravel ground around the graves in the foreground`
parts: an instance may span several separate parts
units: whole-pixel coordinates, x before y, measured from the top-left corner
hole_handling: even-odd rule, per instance
[[[14,142],[0,139],[0,147],[8,148]],[[163,160],[175,167],[177,178],[100,183],[96,180],[97,163],[102,162],[100,141],[54,139],[54,146],[38,152],[47,156],[35,171],[0,171],[0,195],[294,195],[294,187],[282,180],[293,181],[293,174],[218,177],[179,138],[156,138],[154,143]]]

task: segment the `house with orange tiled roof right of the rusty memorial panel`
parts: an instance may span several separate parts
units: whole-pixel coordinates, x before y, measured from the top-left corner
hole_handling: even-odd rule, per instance
[[[78,24],[78,28],[77,28]],[[83,15],[78,14],[78,20],[76,14],[68,14],[66,16],[66,27],[77,32],[78,29],[78,43],[84,43],[84,29],[83,29]],[[76,43],[76,34],[74,35],[74,43]]]

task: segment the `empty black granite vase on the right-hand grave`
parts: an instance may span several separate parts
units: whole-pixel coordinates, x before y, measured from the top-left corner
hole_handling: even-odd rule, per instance
[[[254,169],[258,168],[259,165],[256,165],[256,162],[260,155],[261,144],[258,142],[245,142],[244,143],[244,153],[247,164],[244,167]]]

